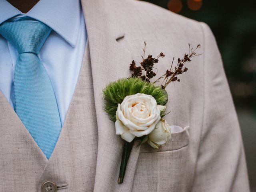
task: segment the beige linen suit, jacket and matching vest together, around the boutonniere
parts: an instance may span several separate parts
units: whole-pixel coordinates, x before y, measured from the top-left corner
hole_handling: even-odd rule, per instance
[[[60,192],[248,192],[240,128],[210,28],[135,0],[82,0],[88,43],[79,80],[49,160],[0,93],[0,192],[36,192],[50,180]],[[102,89],[130,76],[146,54],[165,58],[158,74],[202,44],[181,82],[167,87],[172,134],[159,150],[134,147],[118,184],[123,140],[102,110]]]

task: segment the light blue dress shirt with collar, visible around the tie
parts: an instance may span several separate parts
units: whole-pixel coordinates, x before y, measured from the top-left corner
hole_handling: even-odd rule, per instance
[[[0,24],[10,18],[24,16],[52,28],[38,56],[52,82],[63,125],[78,81],[87,40],[80,0],[40,0],[26,14],[6,0],[0,0]],[[0,36],[0,90],[12,107],[17,56],[16,49]]]

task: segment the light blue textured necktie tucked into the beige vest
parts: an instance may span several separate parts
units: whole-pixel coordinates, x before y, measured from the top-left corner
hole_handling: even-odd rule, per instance
[[[50,78],[38,57],[51,30],[36,20],[0,25],[0,34],[18,51],[14,70],[14,110],[47,159],[62,127]]]

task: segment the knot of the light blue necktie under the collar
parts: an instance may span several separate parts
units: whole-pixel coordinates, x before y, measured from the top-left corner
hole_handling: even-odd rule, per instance
[[[18,20],[0,25],[0,34],[6,38],[18,53],[38,54],[51,28],[36,20]]]

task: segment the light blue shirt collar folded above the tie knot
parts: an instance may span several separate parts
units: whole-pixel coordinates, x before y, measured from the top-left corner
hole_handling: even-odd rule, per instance
[[[28,13],[23,14],[6,0],[0,0],[0,24],[22,14],[48,25],[74,47],[81,11],[80,0],[40,0]]]

